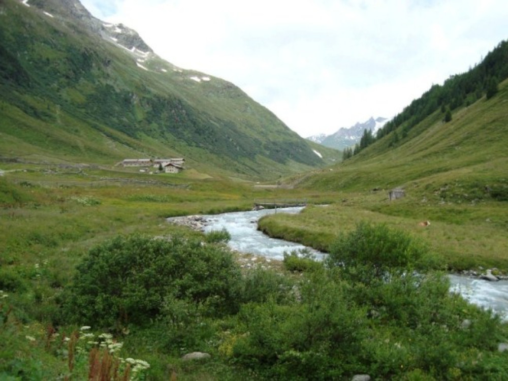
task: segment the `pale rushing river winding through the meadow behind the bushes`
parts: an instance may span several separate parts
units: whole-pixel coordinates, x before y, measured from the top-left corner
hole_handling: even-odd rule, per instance
[[[305,246],[274,239],[257,230],[257,221],[264,215],[272,213],[299,213],[302,207],[265,209],[259,211],[233,212],[203,216],[206,220],[205,232],[226,229],[231,240],[229,246],[240,252],[250,253],[275,260],[282,260],[284,252],[300,250]],[[316,259],[324,254],[313,250]],[[490,282],[478,278],[449,275],[451,291],[460,293],[469,302],[484,308],[492,308],[508,321],[508,281]]]

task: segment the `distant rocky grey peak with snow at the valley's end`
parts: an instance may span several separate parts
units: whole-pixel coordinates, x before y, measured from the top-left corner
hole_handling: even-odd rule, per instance
[[[359,143],[365,130],[372,131],[372,134],[375,135],[387,122],[387,118],[377,117],[374,119],[371,117],[369,120],[363,123],[356,123],[350,128],[341,128],[332,135],[320,134],[310,136],[307,139],[326,147],[343,150],[346,147]]]

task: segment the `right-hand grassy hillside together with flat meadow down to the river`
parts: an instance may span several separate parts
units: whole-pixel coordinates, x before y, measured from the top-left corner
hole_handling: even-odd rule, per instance
[[[507,104],[505,80],[489,99],[484,95],[455,108],[448,122],[436,106],[404,136],[408,124],[402,123],[344,162],[292,180],[301,189],[335,192],[331,205],[270,216],[260,227],[328,250],[340,233],[373,221],[421,237],[450,269],[507,270]],[[395,187],[403,188],[405,197],[389,201],[388,191]],[[427,220],[431,225],[422,229],[419,223]]]

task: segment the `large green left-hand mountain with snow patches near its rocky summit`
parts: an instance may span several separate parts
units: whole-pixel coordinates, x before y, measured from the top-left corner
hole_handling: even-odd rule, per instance
[[[234,84],[172,65],[76,0],[0,2],[0,83],[9,160],[172,156],[201,172],[277,178],[337,154],[317,155]]]

